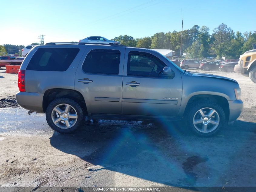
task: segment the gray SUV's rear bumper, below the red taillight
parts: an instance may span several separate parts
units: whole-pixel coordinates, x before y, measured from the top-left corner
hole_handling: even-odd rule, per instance
[[[38,113],[44,113],[43,93],[18,92],[15,96],[17,104],[22,108]]]

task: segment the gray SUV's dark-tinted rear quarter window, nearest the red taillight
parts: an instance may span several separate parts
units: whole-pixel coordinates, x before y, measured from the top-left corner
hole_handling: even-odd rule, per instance
[[[34,71],[66,71],[75,59],[79,49],[74,48],[39,48],[27,70]]]

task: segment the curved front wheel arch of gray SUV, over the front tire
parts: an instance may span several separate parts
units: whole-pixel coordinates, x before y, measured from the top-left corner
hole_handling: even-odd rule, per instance
[[[187,105],[185,107],[185,110],[183,112],[183,116],[186,115],[186,113],[189,111],[190,105],[194,103],[196,100],[201,100],[201,99],[208,99],[211,100],[215,103],[218,103],[224,110],[226,120],[229,119],[229,104],[228,104],[228,99],[225,96],[220,96],[220,95],[211,95],[211,94],[197,94],[193,95],[188,99]]]

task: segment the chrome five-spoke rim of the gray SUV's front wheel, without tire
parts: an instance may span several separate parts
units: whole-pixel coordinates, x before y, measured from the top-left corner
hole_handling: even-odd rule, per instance
[[[220,124],[220,116],[212,108],[202,108],[195,113],[193,124],[201,133],[210,133]]]

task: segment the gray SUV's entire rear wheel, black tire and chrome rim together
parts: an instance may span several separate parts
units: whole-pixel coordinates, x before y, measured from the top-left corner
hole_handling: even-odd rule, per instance
[[[66,109],[67,113],[65,113]],[[45,117],[48,125],[56,132],[73,133],[83,122],[84,111],[74,100],[68,98],[58,98],[53,100],[48,105],[45,112]],[[54,123],[54,120],[59,122]]]

